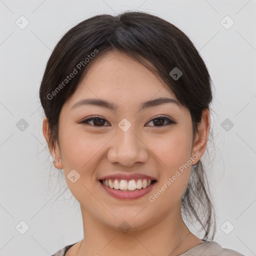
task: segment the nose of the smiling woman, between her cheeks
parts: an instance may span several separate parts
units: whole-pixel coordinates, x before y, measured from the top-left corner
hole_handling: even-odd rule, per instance
[[[144,163],[148,159],[148,149],[141,135],[135,134],[131,127],[126,131],[117,128],[107,152],[109,162],[132,166],[136,162]]]

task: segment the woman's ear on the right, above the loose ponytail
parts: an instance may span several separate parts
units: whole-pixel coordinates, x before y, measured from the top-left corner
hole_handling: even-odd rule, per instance
[[[209,128],[210,128],[209,109],[204,108],[202,110],[201,123],[198,126],[198,132],[196,133],[194,142],[193,142],[192,155],[191,155],[192,165],[196,164],[199,161],[199,159],[202,157],[206,149]],[[197,157],[195,158],[193,157],[193,155],[196,155]]]

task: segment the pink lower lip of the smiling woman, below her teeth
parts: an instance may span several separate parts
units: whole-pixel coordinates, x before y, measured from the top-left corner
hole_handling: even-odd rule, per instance
[[[100,185],[105,189],[105,191],[108,194],[110,194],[111,196],[113,196],[117,199],[137,199],[139,197],[142,197],[143,195],[147,194],[156,183],[154,181],[154,183],[152,183],[150,186],[148,186],[146,188],[141,188],[139,190],[129,192],[129,191],[120,191],[117,189],[113,189],[113,188],[103,185],[100,181],[98,181],[98,182],[100,183]]]

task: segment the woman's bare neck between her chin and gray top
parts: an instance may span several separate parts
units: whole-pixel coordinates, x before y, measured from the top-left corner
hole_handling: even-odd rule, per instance
[[[180,205],[158,222],[143,228],[131,228],[127,232],[121,232],[118,224],[112,227],[96,219],[82,206],[81,212],[84,238],[75,253],[76,256],[104,256],[113,252],[119,256],[172,255],[174,250],[180,251],[182,239],[192,235],[182,220]],[[122,220],[116,222],[121,223]],[[185,247],[183,249],[185,250]]]

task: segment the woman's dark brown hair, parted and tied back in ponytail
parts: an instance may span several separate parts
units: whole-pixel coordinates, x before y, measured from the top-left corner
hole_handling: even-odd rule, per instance
[[[166,88],[189,109],[194,138],[202,110],[209,108],[212,100],[211,79],[204,61],[190,39],[173,24],[145,12],[125,11],[116,16],[100,14],[83,20],[68,30],[53,49],[39,91],[49,123],[50,147],[55,149],[55,143],[58,143],[61,107],[74,93],[93,61],[111,49],[133,57],[164,81]],[[177,80],[169,74],[174,67],[182,72]],[[72,79],[65,80],[67,75],[75,72],[74,69],[77,73]],[[195,218],[204,230],[203,239],[212,240],[214,208],[201,160],[192,166],[181,199],[183,215]]]

